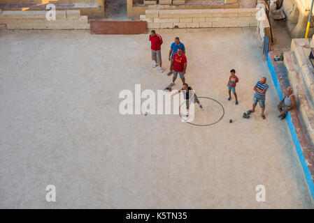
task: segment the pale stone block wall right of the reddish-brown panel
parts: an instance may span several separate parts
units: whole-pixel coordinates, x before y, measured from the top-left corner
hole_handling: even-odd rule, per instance
[[[256,27],[256,13],[256,8],[146,10],[141,20],[148,22],[148,29]]]

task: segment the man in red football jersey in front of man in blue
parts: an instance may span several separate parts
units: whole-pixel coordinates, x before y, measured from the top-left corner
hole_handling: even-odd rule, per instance
[[[178,75],[180,75],[180,79],[183,84],[185,84],[185,70],[187,70],[187,57],[183,54],[183,49],[178,48],[178,52],[173,55],[173,59],[170,65],[170,72],[173,72],[173,79],[170,86],[174,85]]]

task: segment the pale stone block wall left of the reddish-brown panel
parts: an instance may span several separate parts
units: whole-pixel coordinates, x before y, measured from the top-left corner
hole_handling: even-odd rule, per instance
[[[55,21],[48,21],[46,13],[6,10],[0,12],[0,24],[6,29],[90,29],[87,15],[80,15],[80,10],[57,10]]]

